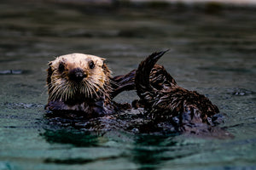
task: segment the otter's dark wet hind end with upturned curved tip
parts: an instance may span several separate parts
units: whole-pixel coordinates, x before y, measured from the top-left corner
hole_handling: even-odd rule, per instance
[[[177,132],[212,130],[218,119],[218,107],[204,95],[179,87],[162,65],[155,65],[165,53],[151,54],[138,66],[135,77],[138,103],[155,125],[168,122]]]

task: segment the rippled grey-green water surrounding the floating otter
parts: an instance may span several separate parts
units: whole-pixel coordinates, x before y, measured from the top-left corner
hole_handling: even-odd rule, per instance
[[[3,1],[0,169],[256,169],[255,10],[208,9]],[[180,86],[218,105],[225,116],[220,127],[234,139],[86,133],[49,124],[45,70],[55,56],[102,56],[118,75],[167,48],[159,63]],[[116,100],[136,98],[131,92]]]

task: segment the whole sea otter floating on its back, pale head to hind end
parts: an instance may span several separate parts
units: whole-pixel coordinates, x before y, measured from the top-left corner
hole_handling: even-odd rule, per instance
[[[137,70],[111,76],[105,59],[88,54],[62,55],[49,62],[48,104],[51,124],[90,131],[120,129],[132,133],[212,133],[218,107],[205,96],[177,86],[162,65],[155,65],[166,52],[154,53]],[[132,105],[146,111],[123,112],[130,104],[113,98],[125,90],[137,90],[140,100]],[[204,134],[205,135],[205,134]],[[212,134],[211,134],[212,135]]]

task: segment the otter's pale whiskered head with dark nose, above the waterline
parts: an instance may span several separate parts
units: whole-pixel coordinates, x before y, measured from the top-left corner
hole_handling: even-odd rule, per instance
[[[49,62],[49,101],[97,99],[106,94],[110,71],[104,60],[88,54],[67,54]]]

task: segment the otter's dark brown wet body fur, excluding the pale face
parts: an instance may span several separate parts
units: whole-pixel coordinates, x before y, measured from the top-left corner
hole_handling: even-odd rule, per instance
[[[162,65],[155,64],[165,53],[151,54],[141,62],[137,70],[117,77],[112,77],[108,66],[103,63],[101,67],[104,75],[107,75],[103,85],[108,90],[99,90],[97,95],[88,98],[49,98],[45,108],[54,111],[54,114],[47,114],[50,122],[64,126],[70,124],[75,128],[81,126],[90,131],[122,128],[133,133],[189,132],[203,137],[230,138],[229,133],[213,128],[215,122],[219,122],[216,105],[212,105],[204,95],[179,87]],[[49,63],[47,71],[46,81],[50,95],[53,93],[52,62]],[[131,105],[118,104],[113,98],[125,90],[133,89],[137,90],[140,97],[132,102],[133,107],[143,107],[145,112],[119,115],[119,111],[130,110]]]

